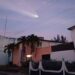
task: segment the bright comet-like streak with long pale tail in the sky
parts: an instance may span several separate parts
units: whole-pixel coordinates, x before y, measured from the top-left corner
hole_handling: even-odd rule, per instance
[[[17,4],[15,4],[15,5],[11,4],[10,2],[1,2],[0,5],[6,9],[15,11],[15,12],[20,13],[25,16],[27,15],[32,18],[39,18],[39,15],[36,13],[36,11],[34,9],[27,9],[26,7],[21,7]]]

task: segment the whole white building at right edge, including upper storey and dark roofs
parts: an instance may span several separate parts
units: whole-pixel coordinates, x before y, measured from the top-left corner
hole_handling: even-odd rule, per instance
[[[69,27],[71,31],[71,38],[73,43],[67,43],[66,45],[53,46],[53,52],[51,53],[51,59],[61,61],[63,58],[68,62],[75,62],[75,25]]]

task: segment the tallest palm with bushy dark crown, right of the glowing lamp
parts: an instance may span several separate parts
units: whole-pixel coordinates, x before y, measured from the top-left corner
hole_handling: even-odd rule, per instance
[[[30,45],[31,54],[33,54],[36,51],[36,48],[41,45],[41,41],[38,36],[31,34],[27,37],[27,44]]]

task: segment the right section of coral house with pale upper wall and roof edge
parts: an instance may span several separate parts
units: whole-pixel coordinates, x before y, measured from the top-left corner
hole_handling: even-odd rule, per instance
[[[41,42],[42,45],[41,47],[37,48],[36,57],[35,54],[33,56],[33,60],[36,62],[40,61],[43,55],[47,55],[51,53],[52,51],[51,46],[61,44],[61,42],[52,41],[52,40],[41,40]]]

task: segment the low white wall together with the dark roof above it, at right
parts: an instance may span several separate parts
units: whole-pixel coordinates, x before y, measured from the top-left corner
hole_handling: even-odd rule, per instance
[[[75,62],[75,50],[73,42],[52,46],[51,59],[56,61]]]

